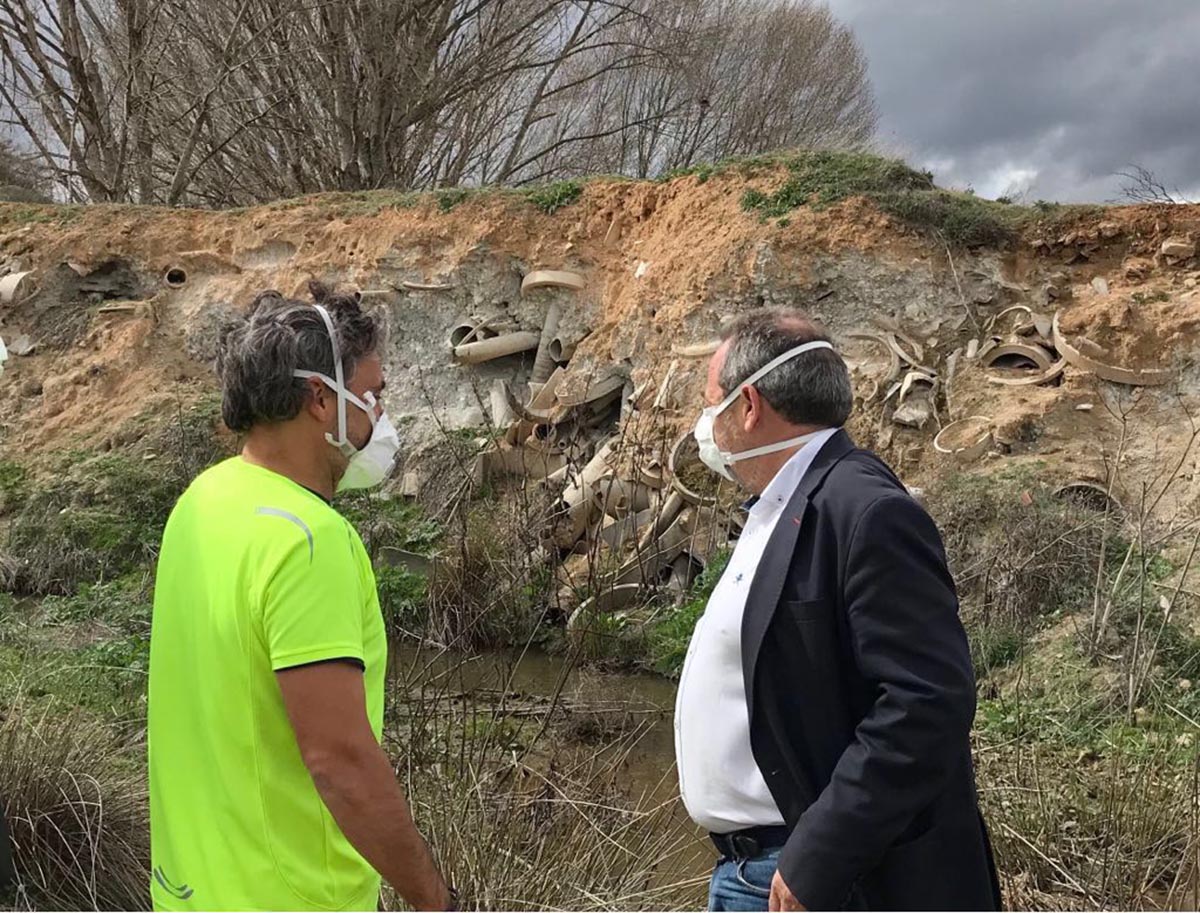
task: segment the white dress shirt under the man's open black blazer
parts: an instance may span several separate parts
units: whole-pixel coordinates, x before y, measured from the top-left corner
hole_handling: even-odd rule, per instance
[[[714,834],[784,823],[750,750],[742,615],[784,507],[836,431],[821,431],[805,442],[750,509],[730,564],[688,645],[674,717],[679,792],[692,821]]]

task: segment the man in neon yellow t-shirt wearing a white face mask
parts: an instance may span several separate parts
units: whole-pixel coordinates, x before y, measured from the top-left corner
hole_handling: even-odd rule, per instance
[[[335,491],[398,442],[379,334],[354,298],[264,293],[226,331],[226,424],[163,534],[150,638],[151,896],[158,909],[419,909],[452,893],[379,745],[388,644]]]

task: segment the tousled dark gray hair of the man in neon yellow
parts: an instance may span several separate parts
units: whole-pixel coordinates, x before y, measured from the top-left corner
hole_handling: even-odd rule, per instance
[[[349,383],[359,361],[379,347],[379,328],[356,295],[334,294],[316,282],[308,288],[334,322]],[[307,380],[293,373],[298,370],[335,376],[329,329],[312,304],[262,292],[248,314],[221,331],[217,376],[221,418],[229,430],[242,433],[299,415],[310,394]]]

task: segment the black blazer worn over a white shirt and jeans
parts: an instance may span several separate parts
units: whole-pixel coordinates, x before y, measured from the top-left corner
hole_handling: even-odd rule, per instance
[[[750,743],[811,909],[997,909],[974,673],[937,528],[839,431],[785,507],[742,621]]]

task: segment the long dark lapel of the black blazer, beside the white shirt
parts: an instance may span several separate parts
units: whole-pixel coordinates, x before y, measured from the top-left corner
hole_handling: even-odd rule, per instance
[[[796,486],[791,500],[763,551],[762,560],[755,570],[750,590],[746,594],[745,613],[742,617],[742,672],[745,678],[746,707],[754,715],[754,680],[758,663],[762,641],[767,636],[770,620],[775,617],[779,597],[784,590],[787,570],[796,554],[796,542],[804,523],[804,512],[809,506],[809,497],[824,481],[829,470],[842,457],[854,449],[853,442],[845,431],[839,431],[817,454],[800,483]]]

